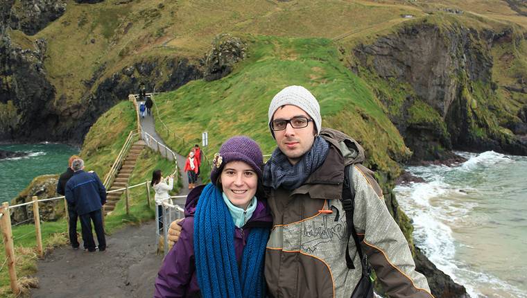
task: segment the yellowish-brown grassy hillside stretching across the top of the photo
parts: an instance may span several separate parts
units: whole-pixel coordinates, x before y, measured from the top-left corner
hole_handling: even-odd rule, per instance
[[[49,41],[46,71],[57,98],[81,97],[80,83],[107,65],[110,74],[149,56],[181,55],[198,59],[219,33],[282,37],[324,37],[356,42],[392,30],[410,19],[442,8],[503,24],[527,25],[505,1],[120,1],[67,3],[67,11],[32,37]],[[15,33],[17,35],[17,33]],[[18,34],[20,35],[20,34]],[[30,43],[31,44],[31,43]]]

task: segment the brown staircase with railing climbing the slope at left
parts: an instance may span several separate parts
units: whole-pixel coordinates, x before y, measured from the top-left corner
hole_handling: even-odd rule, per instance
[[[130,175],[132,175],[132,170],[134,170],[137,158],[139,158],[139,155],[141,154],[141,151],[145,146],[146,143],[144,143],[144,141],[137,141],[132,145],[130,151],[128,152],[128,155],[126,156],[126,159],[123,161],[123,166],[121,166],[121,169],[119,170],[119,173],[117,174],[114,183],[110,187],[110,191],[114,189],[122,189],[123,187],[126,187],[128,185],[128,179],[130,179]],[[108,193],[108,195],[106,196],[106,204],[104,209],[105,215],[114,211],[115,205],[117,204],[117,202],[119,202],[119,199],[121,199],[121,195],[123,193],[124,190],[116,191],[114,193]]]

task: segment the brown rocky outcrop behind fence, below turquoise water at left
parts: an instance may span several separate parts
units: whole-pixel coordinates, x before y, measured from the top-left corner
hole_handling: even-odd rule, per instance
[[[18,195],[10,205],[31,202],[33,196],[39,200],[59,196],[56,192],[58,182],[57,175],[42,175],[35,177],[24,191]],[[59,208],[62,207],[62,208]],[[33,204],[10,209],[12,225],[20,222],[33,222]],[[40,219],[43,221],[55,221],[64,216],[64,200],[51,200],[39,203]]]

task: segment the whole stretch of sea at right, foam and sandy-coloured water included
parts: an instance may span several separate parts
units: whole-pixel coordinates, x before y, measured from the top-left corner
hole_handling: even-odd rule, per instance
[[[458,166],[408,166],[399,185],[415,243],[471,297],[527,297],[527,157],[456,152]]]

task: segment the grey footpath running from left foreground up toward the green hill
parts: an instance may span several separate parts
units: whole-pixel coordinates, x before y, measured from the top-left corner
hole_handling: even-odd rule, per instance
[[[155,132],[152,116],[141,119],[141,125],[162,141]],[[188,179],[182,172],[186,158],[182,155],[177,158],[183,184],[178,195],[187,195]],[[184,204],[184,199],[177,199],[175,203]],[[124,227],[107,235],[106,241],[105,252],[84,252],[71,249],[69,245],[53,249],[37,263],[35,277],[39,279],[40,288],[33,289],[31,297],[152,297],[155,277],[163,260],[162,252],[156,253],[155,221]]]

